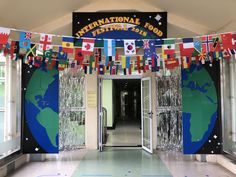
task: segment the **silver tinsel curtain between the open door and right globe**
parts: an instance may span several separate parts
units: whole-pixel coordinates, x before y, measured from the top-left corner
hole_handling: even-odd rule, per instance
[[[157,84],[157,148],[182,151],[181,74],[176,70],[169,76],[156,78]]]

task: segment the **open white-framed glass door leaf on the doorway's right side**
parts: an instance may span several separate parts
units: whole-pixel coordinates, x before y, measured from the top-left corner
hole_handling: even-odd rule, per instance
[[[142,148],[153,153],[151,78],[141,80]]]

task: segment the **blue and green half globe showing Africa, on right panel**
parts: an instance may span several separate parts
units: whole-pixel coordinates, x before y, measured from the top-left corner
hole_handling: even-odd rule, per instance
[[[196,153],[208,140],[218,118],[214,81],[204,66],[182,70],[183,151]]]

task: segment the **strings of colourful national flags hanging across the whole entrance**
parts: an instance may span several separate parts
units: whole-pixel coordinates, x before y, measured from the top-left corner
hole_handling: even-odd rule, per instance
[[[11,31],[19,32],[19,39],[9,40]],[[38,43],[32,43],[32,34],[40,35]],[[61,45],[53,45],[53,38],[61,38]],[[75,45],[81,40],[81,46]],[[103,47],[95,47],[97,40]],[[157,72],[176,67],[189,68],[192,62],[212,66],[214,60],[236,58],[236,33],[227,32],[197,36],[194,38],[167,39],[119,39],[123,49],[116,47],[117,39],[76,38],[53,34],[33,33],[0,27],[0,52],[11,60],[23,60],[35,67],[51,70],[81,69],[85,74],[110,73],[117,75]],[[136,46],[142,41],[142,46]],[[103,52],[102,52],[103,49]],[[141,49],[141,50],[139,50]],[[140,51],[142,54],[139,54]],[[72,57],[69,57],[72,56]]]

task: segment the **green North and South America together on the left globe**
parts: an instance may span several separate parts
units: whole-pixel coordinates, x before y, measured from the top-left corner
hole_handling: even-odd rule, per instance
[[[56,136],[58,133],[58,113],[54,112],[50,107],[47,107],[44,101],[44,95],[49,86],[55,80],[54,76],[58,74],[56,69],[43,71],[36,69],[28,83],[25,99],[31,102],[39,109],[36,115],[38,122],[45,128],[51,144],[57,147]],[[41,98],[41,100],[39,99]],[[43,104],[40,106],[40,104]]]

